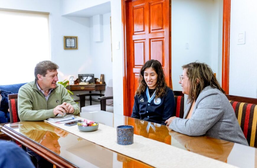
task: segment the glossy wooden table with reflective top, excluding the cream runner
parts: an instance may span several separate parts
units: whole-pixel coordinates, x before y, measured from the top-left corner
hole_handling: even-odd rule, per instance
[[[81,113],[80,116],[113,127],[133,125],[134,134],[238,167],[257,165],[257,150],[253,147],[207,136],[186,136],[154,123],[149,127],[149,122],[106,111]],[[7,124],[2,131],[58,167],[151,167],[42,121]]]

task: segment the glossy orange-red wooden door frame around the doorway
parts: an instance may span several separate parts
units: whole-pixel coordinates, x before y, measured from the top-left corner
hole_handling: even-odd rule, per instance
[[[123,28],[123,115],[127,116],[127,50],[126,50],[126,3],[131,0],[121,0],[121,22]],[[171,5],[171,0],[170,0]],[[223,0],[222,26],[222,88],[229,94],[229,46],[230,46],[230,7],[231,0]],[[171,18],[170,18],[171,20]],[[171,22],[169,23],[171,27]],[[171,41],[170,41],[171,42]],[[171,54],[171,53],[170,53]]]

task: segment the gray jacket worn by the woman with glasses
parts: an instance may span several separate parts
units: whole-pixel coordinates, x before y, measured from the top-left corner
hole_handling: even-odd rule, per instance
[[[211,136],[217,139],[248,145],[234,109],[218,89],[207,86],[196,99],[190,119],[186,119],[191,103],[186,105],[183,118],[175,118],[169,128],[189,136]]]

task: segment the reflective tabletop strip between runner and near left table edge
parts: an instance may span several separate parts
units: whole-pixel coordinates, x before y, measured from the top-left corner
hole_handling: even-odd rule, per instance
[[[22,121],[9,127],[78,167],[151,167],[42,121]]]

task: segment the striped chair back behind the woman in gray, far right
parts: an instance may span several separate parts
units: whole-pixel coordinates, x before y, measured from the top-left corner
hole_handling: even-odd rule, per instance
[[[237,101],[230,101],[230,104],[234,108],[238,123],[243,130],[248,144],[252,147],[257,147],[257,105]]]

